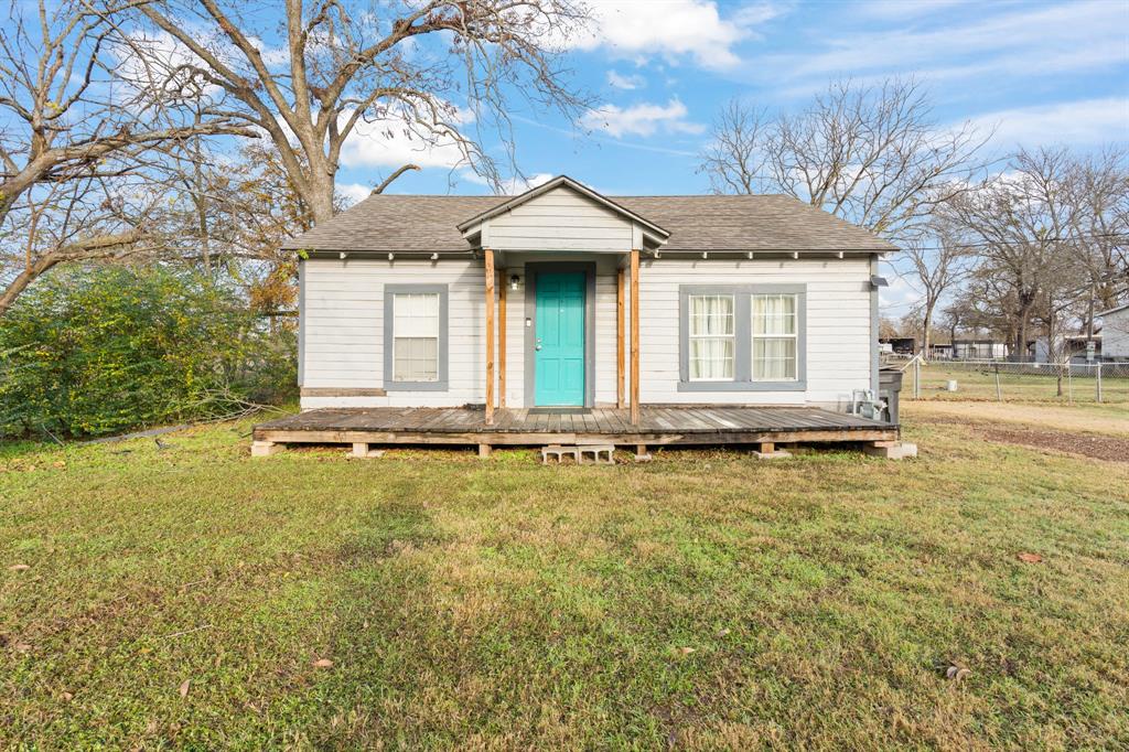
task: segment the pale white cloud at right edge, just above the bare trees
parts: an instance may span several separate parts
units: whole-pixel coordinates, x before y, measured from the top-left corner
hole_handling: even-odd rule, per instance
[[[974,117],[972,124],[984,132],[995,128],[995,142],[1006,148],[1124,142],[1129,141],[1129,98],[1106,97],[1000,110]]]

